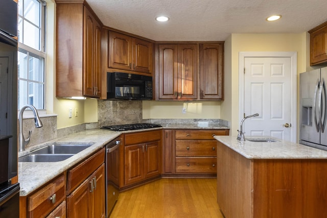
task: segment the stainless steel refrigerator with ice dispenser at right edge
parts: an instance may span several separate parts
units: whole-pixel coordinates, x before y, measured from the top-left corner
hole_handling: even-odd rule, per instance
[[[327,67],[300,74],[299,143],[327,151]]]

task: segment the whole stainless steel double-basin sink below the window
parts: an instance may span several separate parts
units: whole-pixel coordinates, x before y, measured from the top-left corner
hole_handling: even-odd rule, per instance
[[[30,154],[19,157],[18,162],[57,162],[87,149],[94,143],[51,143]]]

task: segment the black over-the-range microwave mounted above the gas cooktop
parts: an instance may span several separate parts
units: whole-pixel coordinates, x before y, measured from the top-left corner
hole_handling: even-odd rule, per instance
[[[152,77],[107,72],[108,100],[152,100]]]

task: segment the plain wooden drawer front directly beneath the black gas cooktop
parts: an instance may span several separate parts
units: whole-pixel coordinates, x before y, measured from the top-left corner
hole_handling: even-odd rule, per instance
[[[130,144],[141,144],[150,141],[159,141],[161,138],[161,130],[135,132],[125,134],[125,146]]]

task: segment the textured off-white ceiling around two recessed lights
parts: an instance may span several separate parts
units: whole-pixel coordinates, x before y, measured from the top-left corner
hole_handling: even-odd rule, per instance
[[[302,33],[327,21],[326,0],[86,0],[105,26],[155,41],[224,41],[231,33]],[[266,17],[281,14],[278,21]],[[159,15],[168,22],[155,20]]]

